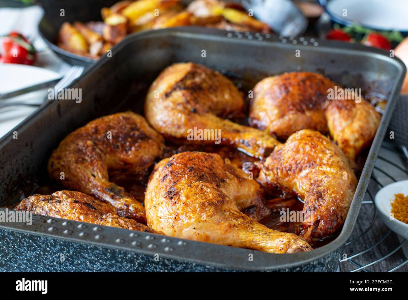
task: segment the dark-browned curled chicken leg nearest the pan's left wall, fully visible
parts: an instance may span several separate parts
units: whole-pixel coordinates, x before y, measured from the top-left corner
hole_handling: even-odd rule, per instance
[[[146,172],[162,155],[163,142],[142,116],[115,113],[64,138],[49,159],[48,172],[64,186],[110,203],[119,216],[146,223],[143,205],[109,176],[130,178]]]

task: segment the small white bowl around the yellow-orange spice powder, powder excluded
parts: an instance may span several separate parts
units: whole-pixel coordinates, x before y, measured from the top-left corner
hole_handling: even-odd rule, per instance
[[[408,240],[408,224],[397,219],[390,220],[391,202],[395,199],[395,194],[402,193],[408,195],[408,180],[397,181],[386,185],[375,195],[375,207],[381,220],[395,233]]]

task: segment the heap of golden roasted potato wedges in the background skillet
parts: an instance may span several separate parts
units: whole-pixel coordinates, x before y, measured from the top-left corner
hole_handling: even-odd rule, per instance
[[[95,58],[127,34],[143,30],[196,25],[271,32],[267,24],[248,16],[242,6],[220,0],[195,0],[188,7],[181,0],[123,0],[102,8],[101,15],[103,22],[62,24],[58,45]]]

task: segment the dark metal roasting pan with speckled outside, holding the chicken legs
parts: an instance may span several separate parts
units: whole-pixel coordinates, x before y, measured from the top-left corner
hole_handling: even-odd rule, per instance
[[[204,58],[202,50],[206,50]],[[295,57],[296,50],[300,58]],[[404,64],[387,54],[342,42],[280,40],[194,27],[127,37],[113,48],[112,58],[101,58],[71,84],[70,88],[82,89],[81,103],[51,100],[0,139],[0,207],[18,202],[18,188],[27,180],[48,178],[47,160],[68,133],[113,112],[142,112],[146,90],[160,71],[174,62],[192,61],[221,71],[244,90],[265,76],[302,70],[388,98],[344,227],[335,240],[313,251],[271,254],[35,215],[31,226],[0,223],[0,269],[334,271],[358,216],[406,73]],[[17,139],[13,131],[18,132]]]

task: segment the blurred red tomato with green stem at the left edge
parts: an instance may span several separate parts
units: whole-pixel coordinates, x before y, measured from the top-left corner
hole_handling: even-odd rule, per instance
[[[35,60],[35,48],[33,45],[15,31],[3,38],[2,62],[12,64],[33,64]]]

